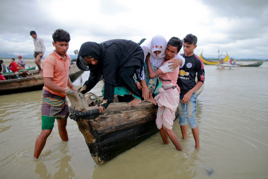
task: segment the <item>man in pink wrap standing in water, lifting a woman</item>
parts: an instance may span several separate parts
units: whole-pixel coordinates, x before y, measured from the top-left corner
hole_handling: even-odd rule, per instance
[[[177,85],[180,68],[175,70],[170,69],[169,63],[172,58],[177,55],[183,45],[182,40],[177,37],[172,37],[167,43],[165,59],[156,71],[150,65],[149,55],[146,58],[148,64],[147,70],[149,78],[153,79],[161,75],[162,87],[158,89],[160,94],[155,96],[158,104],[156,125],[160,130],[161,137],[164,144],[169,144],[169,138],[175,145],[177,150],[183,150],[178,137],[172,130],[173,121],[175,119],[175,112],[180,100],[180,88]]]

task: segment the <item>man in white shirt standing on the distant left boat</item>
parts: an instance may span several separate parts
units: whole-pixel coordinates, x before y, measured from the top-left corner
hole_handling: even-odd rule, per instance
[[[30,35],[32,36],[34,44],[35,44],[35,52],[34,52],[35,63],[38,66],[39,74],[42,74],[43,71],[41,69],[41,58],[43,57],[45,50],[46,50],[44,41],[42,38],[37,37],[37,34],[35,33],[35,31],[31,31]]]

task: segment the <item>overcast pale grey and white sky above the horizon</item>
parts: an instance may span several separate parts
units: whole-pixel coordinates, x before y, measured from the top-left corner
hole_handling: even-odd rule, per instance
[[[0,53],[33,54],[29,35],[43,38],[45,56],[52,52],[52,33],[71,35],[68,54],[86,41],[139,42],[161,34],[198,38],[195,54],[268,59],[268,0],[1,0]],[[181,53],[183,51],[181,50]]]

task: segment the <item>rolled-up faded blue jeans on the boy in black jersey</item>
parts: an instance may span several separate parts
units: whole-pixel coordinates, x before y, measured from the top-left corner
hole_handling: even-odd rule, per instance
[[[196,92],[191,95],[189,102],[185,104],[181,102],[183,96],[180,96],[180,103],[177,108],[180,125],[185,126],[188,122],[191,129],[194,129],[198,126],[196,122]]]

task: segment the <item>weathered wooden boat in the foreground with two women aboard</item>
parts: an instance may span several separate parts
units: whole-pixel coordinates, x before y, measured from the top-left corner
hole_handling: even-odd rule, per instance
[[[197,96],[203,88],[204,85]],[[99,113],[96,100],[73,90],[65,94],[71,102],[70,118],[77,122],[96,164],[112,160],[159,132],[155,123],[158,106],[150,102],[142,101],[133,107],[127,102],[119,103],[115,96],[113,103]]]

